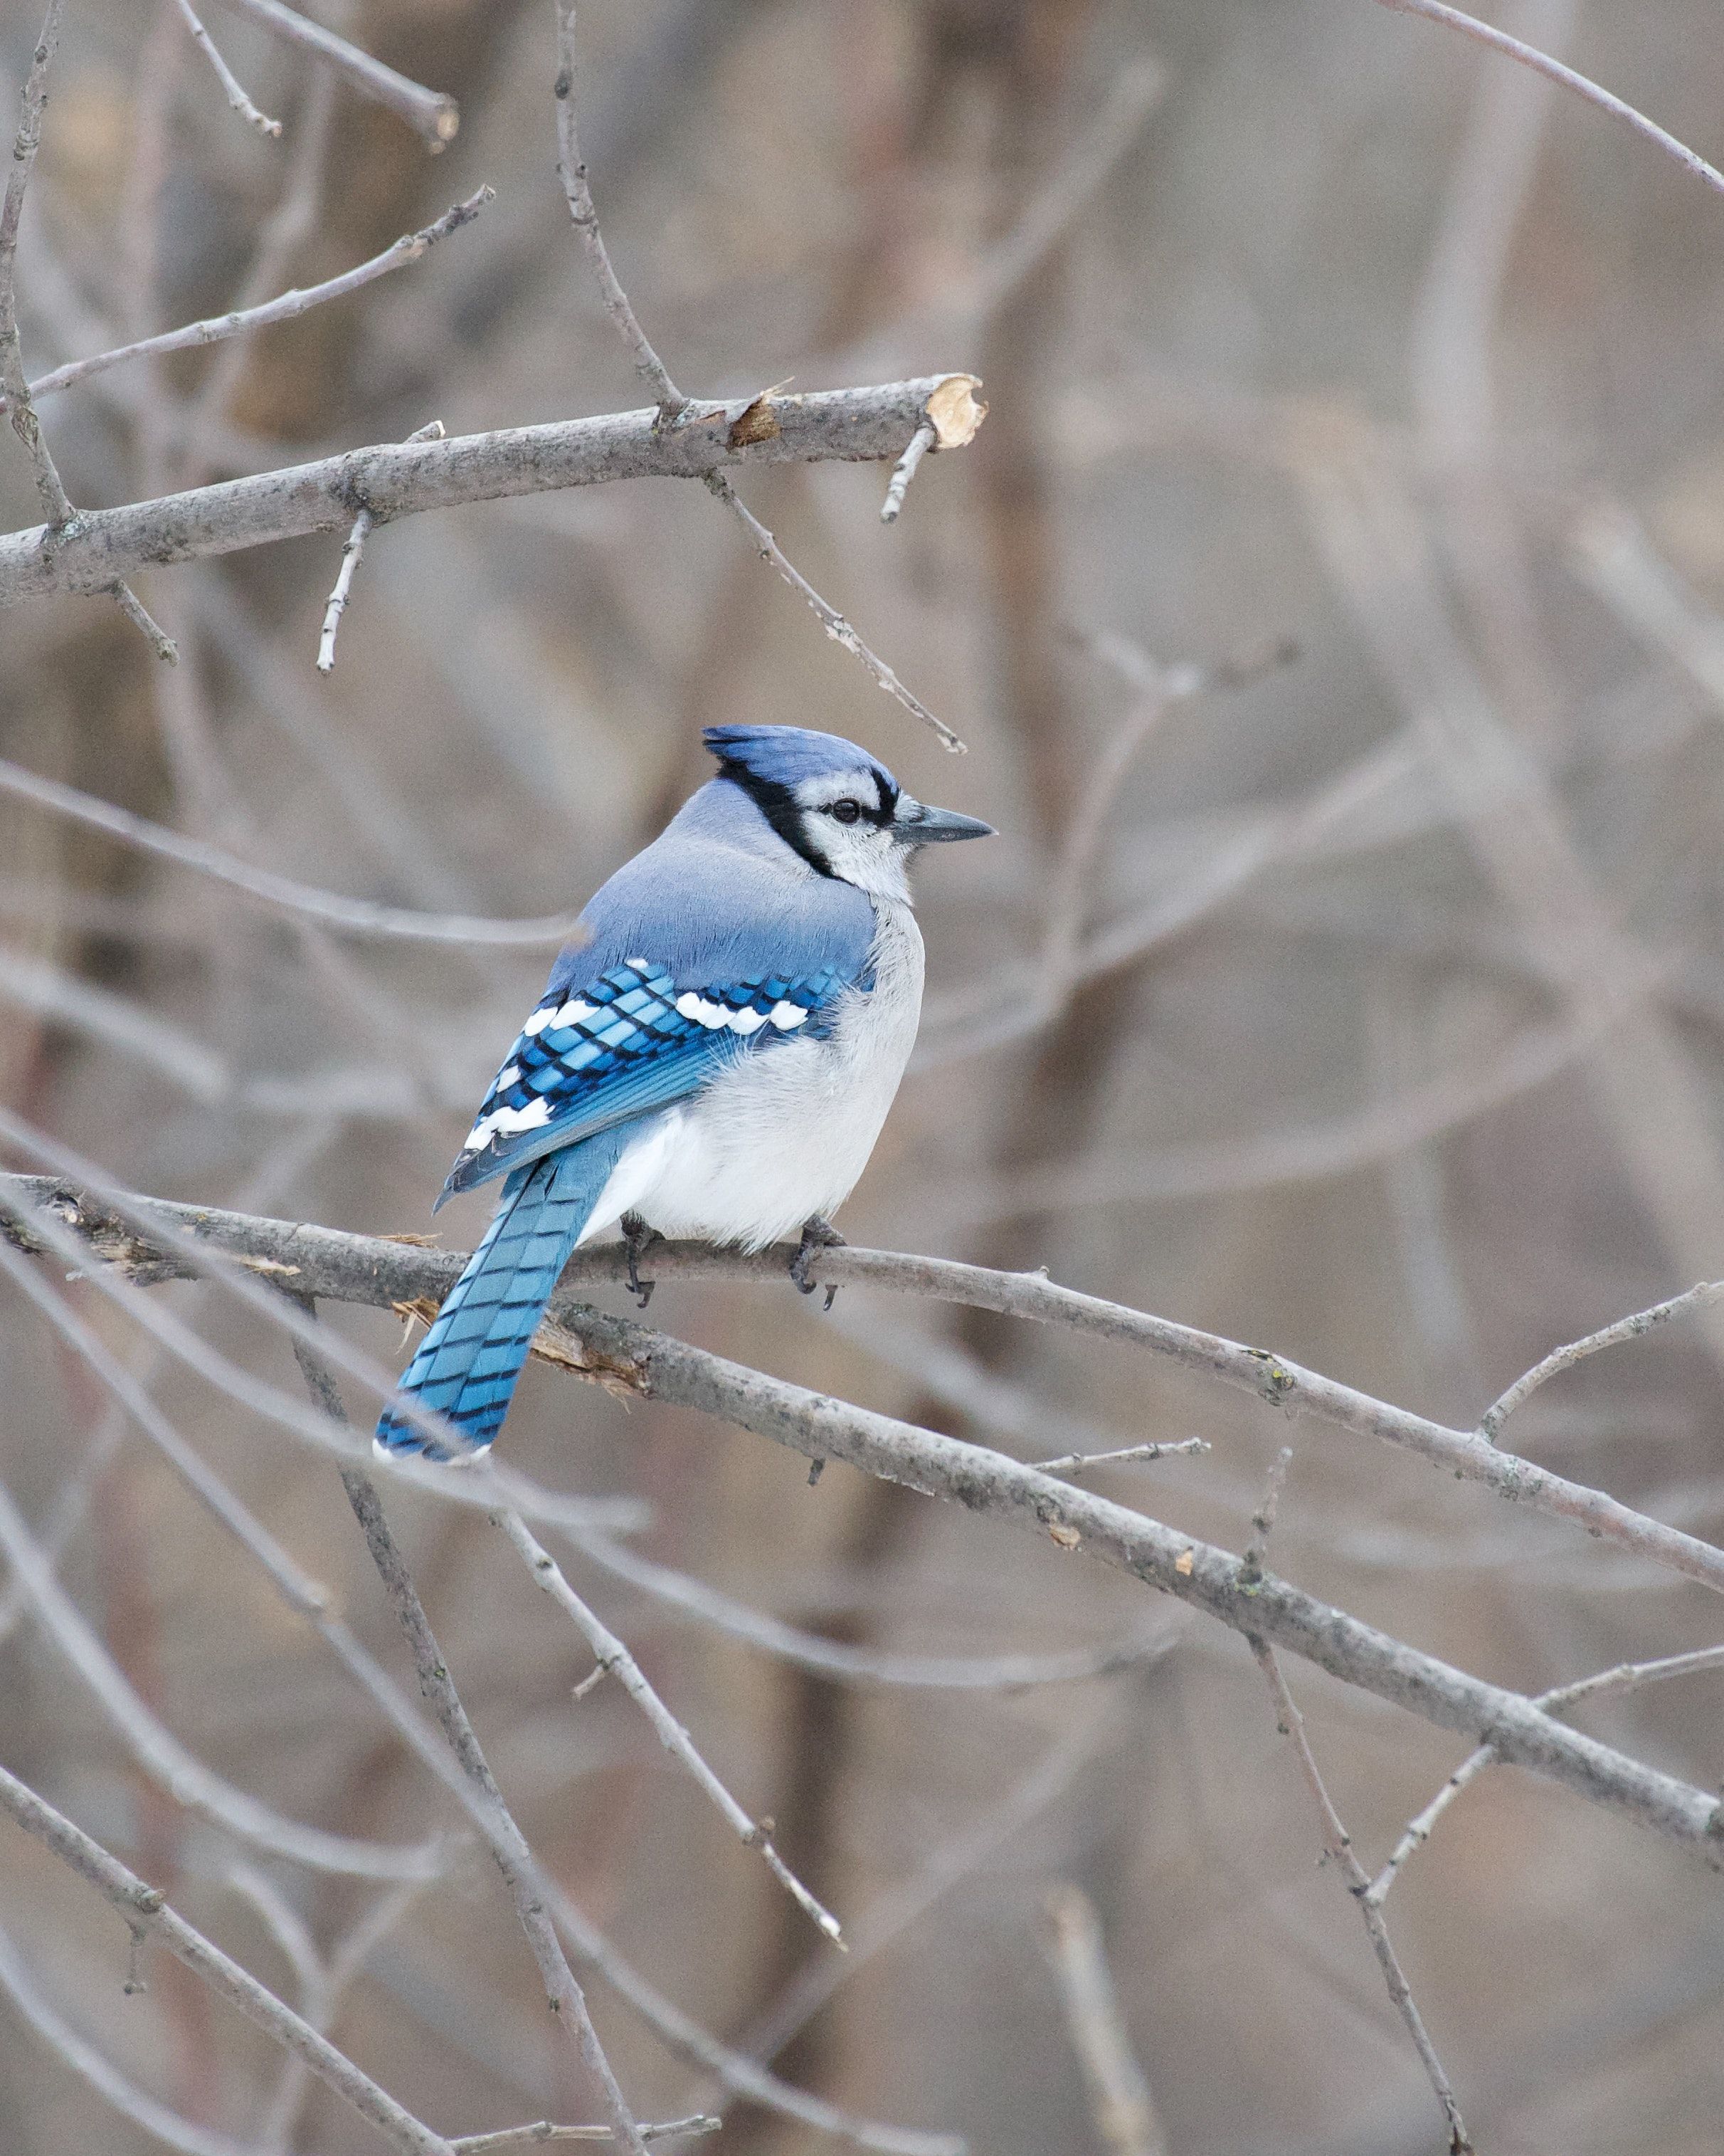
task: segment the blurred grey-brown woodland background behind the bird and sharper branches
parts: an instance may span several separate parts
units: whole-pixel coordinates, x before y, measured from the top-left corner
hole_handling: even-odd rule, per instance
[[[351,300],[45,399],[82,505],[431,418],[642,401],[556,188],[550,9],[317,13],[459,97],[446,155],[215,11],[284,121],[265,142],[172,6],[75,0],[19,257],[30,371],[332,276],[481,183],[498,198]],[[37,4],[2,15],[11,110]],[[1718,153],[1705,0],[1491,19]],[[970,755],[668,483],[379,530],[328,681],[334,537],[140,580],[172,671],[99,602],[6,612],[0,755],[306,882],[511,916],[580,906],[655,834],[705,776],[700,724],[849,733],[1002,832],[922,871],[922,1041],[851,1240],[1049,1266],[1459,1425],[1558,1341],[1724,1272],[1724,203],[1368,0],[593,0],[580,34],[612,254],[683,388],[985,379],[974,446],[922,466],[896,526],[877,468],[741,481]],[[4,431],[0,522],[37,515]],[[1284,640],[1297,658],[1269,662]],[[0,800],[0,1102],[138,1190],[431,1233],[547,957],[340,942]],[[483,1220],[470,1199],[435,1227],[468,1246]],[[412,1682],[330,1464],[67,1296]],[[159,1296],[293,1382],[280,1335]],[[1718,1636],[1698,1587],[1123,1350],[853,1289],[821,1317],[789,1289],[666,1283],[651,1319],[1026,1460],[1202,1436],[1093,1483],[1235,1550],[1293,1438],[1276,1570],[1519,1690]],[[332,1322],[397,1358],[392,1317]],[[1623,1348],[1513,1442],[1715,1535],[1720,1358],[1702,1324]],[[67,1589],[162,1720],[297,1820],[446,1828],[11,1289],[0,1365],[4,1481],[43,1535],[60,1522]],[[634,1550],[802,1632],[1144,1649],[1030,1688],[828,1682],[558,1548],[787,1858],[875,1925],[838,1964],[614,1686],[569,1699],[590,1656],[483,1516],[390,1498],[534,1846],[707,2029],[780,2042],[780,2072],[871,2119],[1099,2150],[1047,1960],[1047,1895],[1073,1882],[1153,2089],[1144,2147],[1444,2145],[1233,1634],[545,1367],[504,1449],[644,1498]],[[239,1850],[136,1768],[28,1613],[4,1621],[0,1755],[267,1984],[300,1996],[289,1919],[321,1955],[371,1923],[334,2033],[403,2102],[448,2134],[595,2115],[481,1854],[384,1906],[384,1884]],[[1463,1746],[1289,1680],[1377,1863]],[[1580,1720],[1711,1785],[1715,1682]],[[37,1996],[205,2137],[379,2145],[321,2091],[272,2113],[272,2048],[166,1958],[123,1996],[123,1927],[9,1826],[0,1910]],[[1390,1919],[1480,2150],[1718,2147],[1724,1915],[1687,1858],[1487,1774]],[[828,2145],[720,2100],[606,1986],[593,2003],[642,2115],[722,2109],[703,2145],[726,2156]],[[159,2145],[11,2003],[0,2024],[9,2152]]]

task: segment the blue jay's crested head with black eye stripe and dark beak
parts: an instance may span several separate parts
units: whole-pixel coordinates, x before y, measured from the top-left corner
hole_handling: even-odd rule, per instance
[[[819,875],[873,899],[907,899],[909,856],[948,839],[991,839],[993,826],[929,808],[856,742],[806,727],[707,727],[700,740]]]

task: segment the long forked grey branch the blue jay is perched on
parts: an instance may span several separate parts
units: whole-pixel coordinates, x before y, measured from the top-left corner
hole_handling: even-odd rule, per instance
[[[80,1233],[93,1238],[93,1253],[103,1255],[103,1229],[112,1233],[112,1201],[88,1201],[65,1181],[39,1177],[0,1177],[0,1194],[9,1197],[13,1210],[24,1205],[32,1212],[45,1201],[60,1216],[71,1214]],[[248,1255],[252,1263],[278,1261],[276,1253],[291,1250],[297,1268],[295,1294],[373,1307],[420,1296],[440,1298],[461,1270],[459,1253],[310,1225],[134,1199],[125,1201],[123,1212],[149,1220],[151,1229],[138,1233],[127,1227],[121,1248],[108,1244],[108,1255],[127,1253],[134,1261],[149,1255],[157,1266],[179,1270],[183,1263],[179,1253],[172,1259],[164,1253],[172,1246],[192,1248],[192,1238],[198,1238],[215,1248],[190,1270],[211,1270],[246,1300],[252,1296],[261,1300],[265,1291],[226,1272],[215,1250]],[[151,1238],[157,1238],[153,1250]],[[580,1270],[586,1276],[606,1276],[597,1268],[608,1268],[610,1279],[621,1279],[623,1266],[621,1250],[590,1250]],[[679,1250],[668,1244],[662,1253],[655,1250],[653,1266],[662,1276],[670,1276],[677,1268],[707,1276],[782,1279],[789,1250],[746,1259],[733,1253]],[[1496,1451],[1483,1438],[1444,1429],[1261,1350],[1080,1296],[1039,1274],[989,1272],[978,1266],[856,1248],[821,1253],[817,1272],[821,1281],[894,1285],[901,1291],[959,1300],[1004,1315],[1069,1324],[1088,1337],[1168,1354],[1183,1367],[1248,1388],[1284,1412],[1304,1408],[1340,1427],[1403,1445],[1433,1464],[1459,1468],[1463,1477],[1483,1481],[1502,1496],[1530,1501],[1537,1509],[1577,1520],[1707,1585],[1724,1580],[1724,1552],[1633,1514],[1599,1490],[1569,1483],[1532,1462]],[[289,1317],[297,1319],[297,1313],[280,1313],[282,1324]],[[1718,1802],[1702,1789],[1595,1744],[1554,1723],[1528,1699],[1388,1639],[1284,1580],[1243,1576],[1241,1561],[1226,1550],[1181,1535],[1088,1490],[1058,1483],[985,1447],[853,1408],[627,1319],[606,1317],[575,1302],[567,1289],[554,1298],[552,1319],[550,1341],[575,1369],[590,1369],[646,1397],[713,1414],[806,1457],[845,1460],[862,1473],[1009,1520],[1037,1537],[1049,1537],[1056,1548],[1082,1550],[1207,1611],[1235,1632],[1284,1645],[1330,1675],[1403,1705],[1437,1727],[1461,1729],[1491,1742],[1502,1757],[1549,1774],[1593,1802],[1638,1818],[1679,1841],[1709,1852],[1718,1848]],[[295,1337],[304,1332],[304,1319],[289,1324],[289,1330]],[[448,1479],[453,1477],[444,1477]]]

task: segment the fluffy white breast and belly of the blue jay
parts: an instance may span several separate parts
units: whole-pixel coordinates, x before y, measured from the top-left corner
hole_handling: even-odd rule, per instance
[[[875,985],[823,1041],[746,1050],[694,1100],[646,1117],[610,1173],[582,1242],[638,1212],[662,1235],[761,1250],[856,1188],[916,1044],[922,936],[881,906]]]

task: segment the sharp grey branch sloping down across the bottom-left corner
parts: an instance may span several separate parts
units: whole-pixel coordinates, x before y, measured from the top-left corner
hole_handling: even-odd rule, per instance
[[[248,1975],[237,1962],[231,1962],[203,1932],[194,1932],[181,1915],[168,1908],[159,1887],[149,1887],[136,1871],[127,1871],[116,1856],[110,1856],[101,1843],[91,1841],[82,1828],[54,1811],[52,1805],[9,1774],[6,1768],[0,1768],[0,1811],[11,1813],[26,1835],[34,1835],[60,1863],[71,1865],[80,1878],[106,1895],[125,1919],[134,1938],[159,1938],[168,1953],[185,1962],[194,1975],[203,1977],[246,2020],[263,2029],[276,2044],[297,2053],[321,2083],[349,2102],[362,2119],[369,2119],[399,2150],[405,2150],[407,2156],[450,2156],[446,2141],[433,2134],[429,2126],[422,2126],[409,2111],[403,2111],[345,2053],[338,2053],[334,2044],[300,2020],[291,2007],[282,2005],[274,1992],[267,1992],[256,1977]]]

